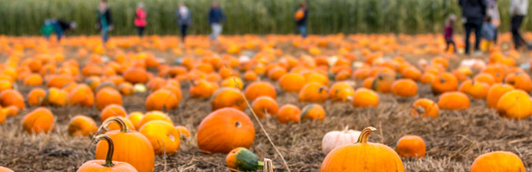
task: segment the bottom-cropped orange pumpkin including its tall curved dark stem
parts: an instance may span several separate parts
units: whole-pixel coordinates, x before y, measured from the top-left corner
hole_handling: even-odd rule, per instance
[[[113,161],[113,155],[116,156],[114,153],[115,148],[118,149],[119,147],[114,147],[116,143],[113,143],[113,139],[111,139],[109,136],[105,135],[99,135],[96,136],[93,139],[93,142],[100,144],[100,140],[106,140],[107,141],[107,147],[109,147],[109,150],[107,151],[105,155],[104,160],[90,160],[85,163],[83,163],[77,172],[93,172],[93,171],[107,171],[107,172],[121,172],[121,171],[128,171],[128,172],[137,172],[137,169],[133,167],[131,164],[127,162],[119,162],[119,161]],[[116,142],[116,140],[115,140]],[[153,171],[153,169],[152,169]]]

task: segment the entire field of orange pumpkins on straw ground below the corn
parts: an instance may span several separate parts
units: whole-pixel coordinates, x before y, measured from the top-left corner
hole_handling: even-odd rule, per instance
[[[0,166],[532,171],[531,54],[500,37],[0,36]]]

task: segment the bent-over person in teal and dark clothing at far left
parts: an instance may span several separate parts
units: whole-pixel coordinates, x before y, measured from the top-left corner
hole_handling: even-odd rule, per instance
[[[41,27],[41,33],[46,36],[46,39],[49,39],[52,32],[56,32],[57,41],[60,41],[65,33],[74,29],[76,29],[76,22],[68,22],[63,19],[46,19],[45,25]]]

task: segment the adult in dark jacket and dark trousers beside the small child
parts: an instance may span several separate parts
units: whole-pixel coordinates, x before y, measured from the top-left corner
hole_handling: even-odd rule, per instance
[[[469,35],[475,30],[475,51],[480,50],[480,32],[486,15],[485,0],[458,0],[465,28],[465,54],[469,54]]]

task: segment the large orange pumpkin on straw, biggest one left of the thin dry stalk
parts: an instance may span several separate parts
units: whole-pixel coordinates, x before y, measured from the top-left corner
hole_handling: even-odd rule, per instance
[[[229,153],[236,147],[250,147],[255,129],[250,117],[238,109],[225,107],[201,120],[197,144],[206,153]]]

